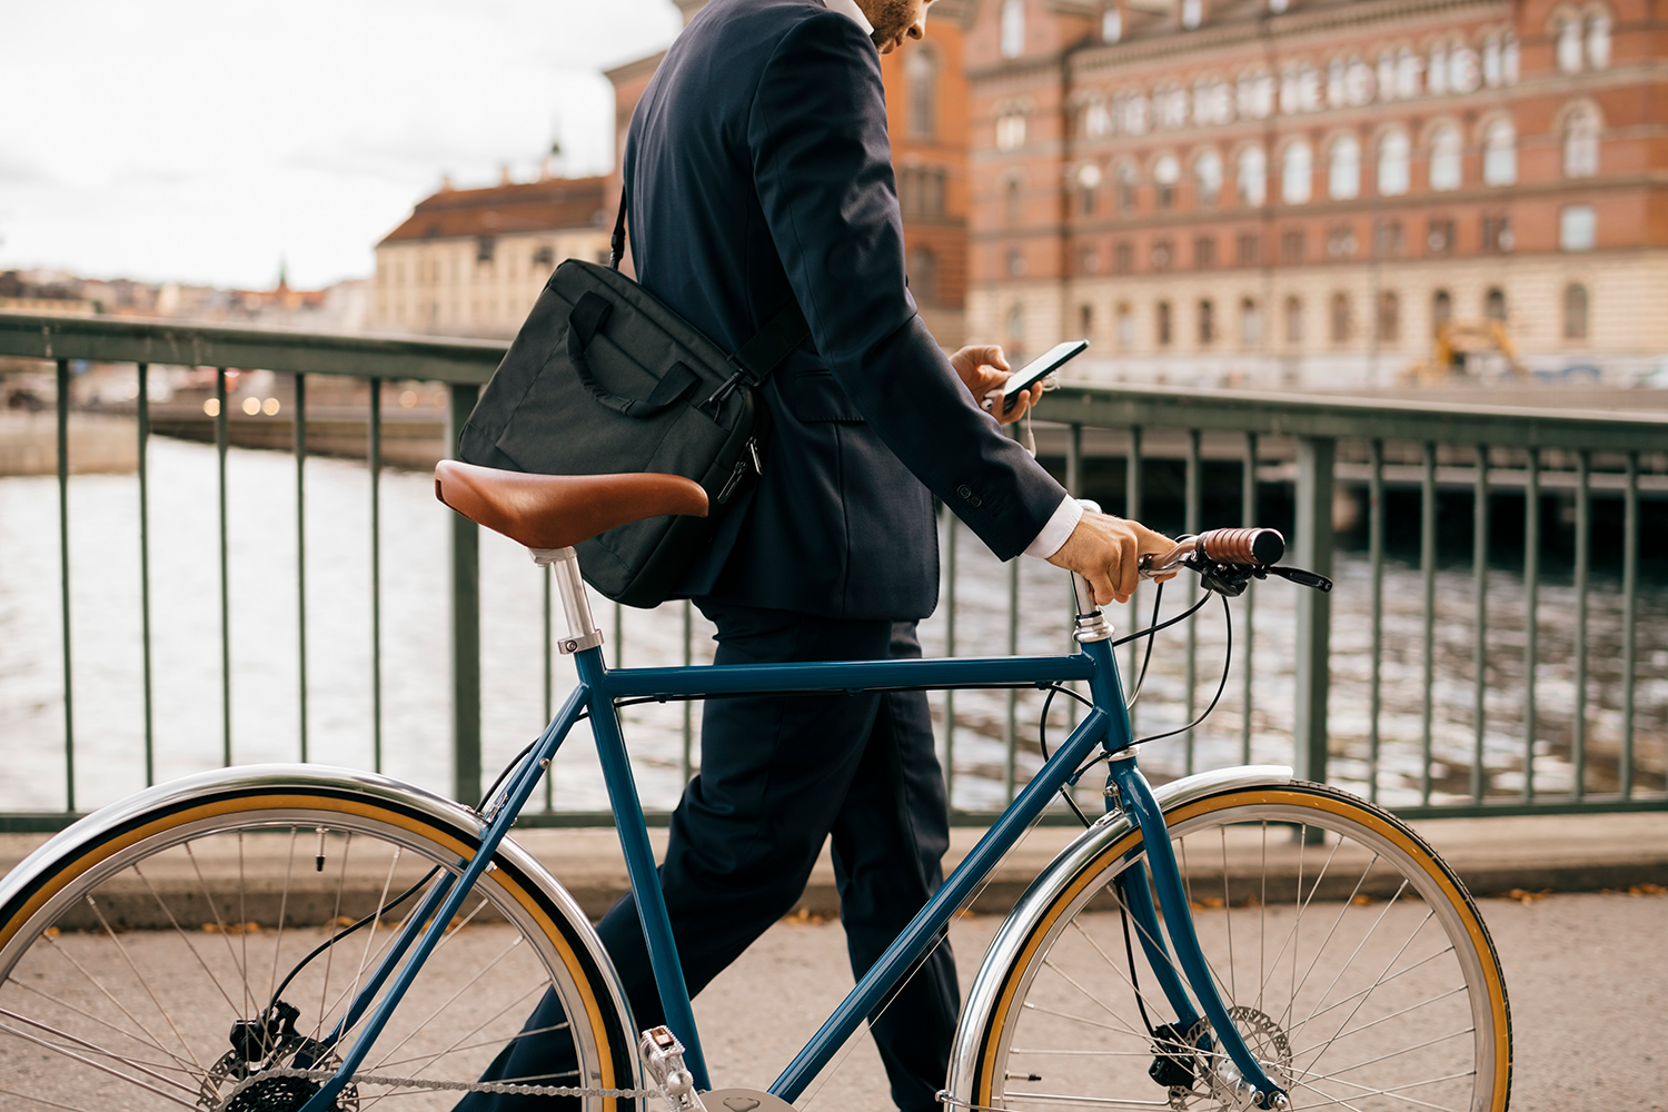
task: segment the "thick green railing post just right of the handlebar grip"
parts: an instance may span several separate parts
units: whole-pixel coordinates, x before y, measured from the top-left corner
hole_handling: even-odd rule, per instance
[[[1298,537],[1293,564],[1333,574],[1333,463],[1338,442],[1298,440]],[[1331,595],[1298,592],[1296,715],[1293,765],[1299,780],[1326,782],[1326,694],[1331,655]]]

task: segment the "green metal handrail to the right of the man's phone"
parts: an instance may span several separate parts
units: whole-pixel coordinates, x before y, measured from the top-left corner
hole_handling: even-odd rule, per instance
[[[1668,450],[1668,413],[1409,402],[1386,397],[1069,385],[1036,415],[1066,425],[1199,428],[1259,435],[1490,443],[1516,448]]]

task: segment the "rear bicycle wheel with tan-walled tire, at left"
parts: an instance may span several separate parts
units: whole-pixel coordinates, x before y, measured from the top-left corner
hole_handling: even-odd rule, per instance
[[[285,1070],[339,1064],[330,1032],[422,894],[474,849],[432,809],[329,785],[173,800],[73,845],[0,909],[0,1104],[300,1109],[317,1084]],[[545,989],[572,1019],[579,1069],[515,1080],[632,1089],[634,1040],[585,930],[500,854],[357,1072],[384,1080],[337,1107],[450,1109]]]

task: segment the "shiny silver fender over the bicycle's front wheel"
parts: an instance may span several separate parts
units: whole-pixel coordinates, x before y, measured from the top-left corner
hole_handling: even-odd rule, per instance
[[[1204,795],[1214,795],[1233,789],[1266,787],[1289,784],[1291,769],[1286,765],[1241,765],[1216,772],[1201,772],[1184,780],[1174,780],[1154,789],[1153,795],[1163,810],[1189,804]],[[961,1010],[961,1022],[956,1027],[956,1042],[951,1049],[949,1074],[946,1090],[952,1102],[966,1102],[972,1095],[974,1074],[979,1064],[979,1050],[989,1030],[994,1010],[999,1005],[996,994],[1006,980],[1007,969],[1019,957],[1026,940],[1034,932],[1037,920],[1054,904],[1056,897],[1071,884],[1086,864],[1118,839],[1129,834],[1133,822],[1124,812],[1103,815],[1094,825],[1084,830],[1059,855],[1049,862],[1026,894],[1014,904],[1014,910],[1002,922],[991,949],[984,954],[972,985],[967,989],[967,1004]]]

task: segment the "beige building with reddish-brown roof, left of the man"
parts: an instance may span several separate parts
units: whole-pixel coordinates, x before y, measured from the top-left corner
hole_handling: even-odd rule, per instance
[[[512,337],[564,258],[607,262],[604,178],[442,187],[377,243],[374,332]]]

